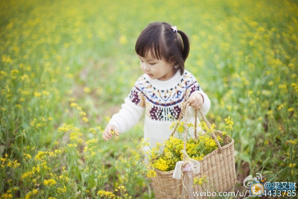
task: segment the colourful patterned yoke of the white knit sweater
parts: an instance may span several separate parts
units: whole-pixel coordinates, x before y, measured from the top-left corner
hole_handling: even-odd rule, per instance
[[[178,71],[167,81],[142,75],[128,97],[139,107],[145,107],[149,119],[173,121],[179,118],[186,99],[199,91],[202,89],[190,72],[185,71],[181,76]]]

